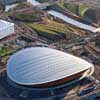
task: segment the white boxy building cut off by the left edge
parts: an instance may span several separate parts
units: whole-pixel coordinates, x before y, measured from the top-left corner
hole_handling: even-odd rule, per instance
[[[14,33],[14,23],[0,20],[0,40]]]

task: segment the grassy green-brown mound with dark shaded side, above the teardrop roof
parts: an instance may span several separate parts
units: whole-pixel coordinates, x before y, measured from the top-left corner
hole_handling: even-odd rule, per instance
[[[45,36],[50,39],[56,39],[67,36],[68,39],[84,35],[84,32],[79,29],[74,29],[69,25],[50,21],[45,23],[27,23],[27,25],[38,32],[39,35]],[[79,34],[78,34],[79,33]]]

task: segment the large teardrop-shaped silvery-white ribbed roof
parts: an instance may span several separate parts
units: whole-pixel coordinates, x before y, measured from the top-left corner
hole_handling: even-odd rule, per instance
[[[15,83],[36,85],[77,74],[92,64],[55,49],[34,47],[12,55],[7,63],[7,75]]]

